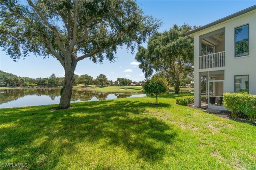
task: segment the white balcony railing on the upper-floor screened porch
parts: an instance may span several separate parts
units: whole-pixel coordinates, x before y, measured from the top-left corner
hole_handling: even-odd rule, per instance
[[[199,57],[199,69],[209,69],[225,66],[225,51],[211,53]]]

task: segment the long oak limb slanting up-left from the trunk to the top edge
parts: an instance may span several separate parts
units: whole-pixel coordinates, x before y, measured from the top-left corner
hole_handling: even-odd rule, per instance
[[[50,29],[54,32],[54,34],[55,34],[55,36],[56,36],[56,38],[57,38],[58,47],[60,48],[60,50],[61,50],[63,53],[65,53],[65,49],[62,47],[61,42],[60,42],[60,35],[59,35],[58,31],[56,30],[56,28],[55,28],[54,26],[52,26],[52,25],[46,20],[46,18],[45,18],[45,17],[43,16],[43,14],[38,10],[38,8],[36,8],[36,6],[33,4],[33,2],[32,2],[31,0],[27,0],[27,1],[28,1],[28,4],[29,4],[30,6],[32,6],[32,8],[37,12],[37,14],[40,16],[40,18],[44,21],[44,23],[46,24],[46,26],[48,26],[48,28],[50,28]]]

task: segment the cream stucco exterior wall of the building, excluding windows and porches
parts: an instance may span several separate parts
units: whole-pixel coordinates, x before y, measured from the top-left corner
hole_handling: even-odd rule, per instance
[[[234,57],[234,29],[249,24],[249,55]],[[199,69],[199,36],[225,28],[225,67]],[[224,50],[223,50],[224,51]],[[234,76],[249,75],[249,93],[256,94],[256,13],[194,35],[194,105],[199,106],[199,72],[224,70],[224,92],[234,92]]]

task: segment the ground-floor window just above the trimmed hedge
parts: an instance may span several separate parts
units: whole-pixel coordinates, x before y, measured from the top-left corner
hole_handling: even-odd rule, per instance
[[[249,75],[235,76],[235,92],[249,92]]]

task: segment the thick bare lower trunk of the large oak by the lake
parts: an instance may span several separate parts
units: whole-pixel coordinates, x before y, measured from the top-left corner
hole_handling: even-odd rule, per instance
[[[76,69],[76,61],[65,63],[65,77],[64,83],[60,95],[59,109],[67,109],[70,107],[72,87],[73,87],[73,76]]]

